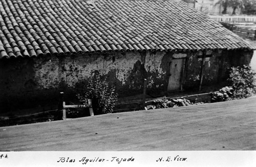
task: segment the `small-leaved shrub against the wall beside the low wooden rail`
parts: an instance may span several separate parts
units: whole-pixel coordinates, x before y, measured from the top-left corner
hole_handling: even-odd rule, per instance
[[[100,115],[113,112],[117,93],[115,93],[115,87],[110,86],[106,79],[99,74],[94,74],[77,97],[82,104],[86,104],[87,99],[92,99],[94,114]]]

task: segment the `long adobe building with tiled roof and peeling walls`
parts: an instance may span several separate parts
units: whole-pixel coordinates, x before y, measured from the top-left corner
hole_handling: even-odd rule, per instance
[[[0,0],[0,110],[74,98],[97,72],[120,97],[213,85],[250,44],[173,0]]]

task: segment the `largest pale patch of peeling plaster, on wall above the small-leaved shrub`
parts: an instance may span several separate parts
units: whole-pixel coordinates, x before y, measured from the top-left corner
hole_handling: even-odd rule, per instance
[[[113,53],[55,57],[47,61],[42,59],[36,60],[34,69],[38,88],[58,88],[59,82],[74,88],[77,82],[88,78],[94,71],[106,75],[114,70],[115,77],[125,84],[127,74],[131,73],[140,57],[136,53]]]

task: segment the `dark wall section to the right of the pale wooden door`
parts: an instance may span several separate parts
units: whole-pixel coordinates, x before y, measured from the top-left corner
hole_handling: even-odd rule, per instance
[[[206,53],[203,86],[210,86],[224,81],[229,76],[231,67],[249,65],[253,51],[229,50],[209,51]],[[185,68],[184,89],[199,89],[202,67],[202,52],[188,53]]]

